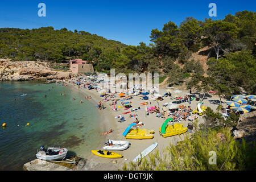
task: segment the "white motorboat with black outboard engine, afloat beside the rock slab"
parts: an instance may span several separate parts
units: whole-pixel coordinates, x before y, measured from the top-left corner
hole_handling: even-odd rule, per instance
[[[48,147],[46,150],[44,146],[41,146],[40,151],[36,154],[36,158],[42,160],[63,160],[67,153],[67,148]]]

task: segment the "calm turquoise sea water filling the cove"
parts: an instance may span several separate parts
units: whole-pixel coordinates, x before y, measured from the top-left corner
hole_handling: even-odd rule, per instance
[[[20,97],[23,93],[27,96]],[[101,116],[84,97],[71,86],[0,82],[0,170],[22,170],[24,163],[36,159],[36,149],[42,145],[66,147],[69,155],[90,155],[102,142]]]

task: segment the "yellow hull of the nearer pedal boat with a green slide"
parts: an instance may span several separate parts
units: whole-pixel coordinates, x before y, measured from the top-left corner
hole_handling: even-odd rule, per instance
[[[174,135],[179,135],[179,134],[183,134],[185,132],[187,132],[188,128],[187,127],[183,127],[183,124],[179,124],[179,123],[175,123],[174,125],[167,125],[166,126],[166,133],[161,133],[161,127],[159,129],[159,133],[160,135],[162,135],[162,137],[171,137]]]

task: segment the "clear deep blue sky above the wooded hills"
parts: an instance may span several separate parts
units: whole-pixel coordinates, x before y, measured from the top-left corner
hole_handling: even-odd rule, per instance
[[[38,16],[38,4],[46,4],[46,17]],[[216,3],[217,17],[237,11],[255,11],[255,0],[137,0],[137,1],[87,1],[87,0],[31,0],[0,1],[0,27],[39,28],[52,26],[56,29],[82,30],[137,46],[139,42],[150,43],[154,28],[162,30],[170,20],[179,26],[186,17],[197,20],[211,18],[209,3]]]

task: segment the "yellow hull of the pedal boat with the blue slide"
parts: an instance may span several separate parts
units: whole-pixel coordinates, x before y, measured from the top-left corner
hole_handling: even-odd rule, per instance
[[[125,136],[126,139],[151,139],[154,137],[154,130],[147,129],[133,129],[130,130],[129,133]]]

